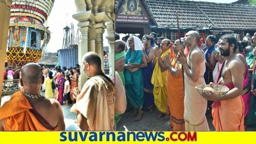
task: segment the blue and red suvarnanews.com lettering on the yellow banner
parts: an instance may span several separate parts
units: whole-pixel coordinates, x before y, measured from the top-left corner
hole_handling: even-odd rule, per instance
[[[170,133],[166,135],[165,133]],[[60,141],[196,141],[196,132],[61,132]]]

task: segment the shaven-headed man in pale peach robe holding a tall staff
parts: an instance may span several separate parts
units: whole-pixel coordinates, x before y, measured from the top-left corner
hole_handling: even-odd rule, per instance
[[[207,100],[196,90],[196,86],[205,85],[205,57],[204,51],[197,46],[200,35],[196,31],[189,31],[184,37],[184,45],[189,49],[188,58],[185,54],[178,54],[178,60],[185,68],[184,84],[184,120],[186,131],[209,131],[205,117]]]

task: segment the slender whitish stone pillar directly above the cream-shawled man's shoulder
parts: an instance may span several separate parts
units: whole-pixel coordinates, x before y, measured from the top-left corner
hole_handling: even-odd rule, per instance
[[[106,22],[109,44],[109,53],[108,53],[108,64],[109,64],[109,78],[112,80],[115,77],[115,34],[114,34],[114,22]]]

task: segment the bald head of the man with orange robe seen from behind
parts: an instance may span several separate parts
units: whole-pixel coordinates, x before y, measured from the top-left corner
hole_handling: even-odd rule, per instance
[[[21,69],[21,79],[24,85],[41,84],[42,76],[43,72],[39,64],[29,63]]]

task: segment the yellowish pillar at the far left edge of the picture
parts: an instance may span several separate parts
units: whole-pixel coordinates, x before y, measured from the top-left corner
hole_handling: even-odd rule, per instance
[[[12,0],[0,0],[0,107]]]

